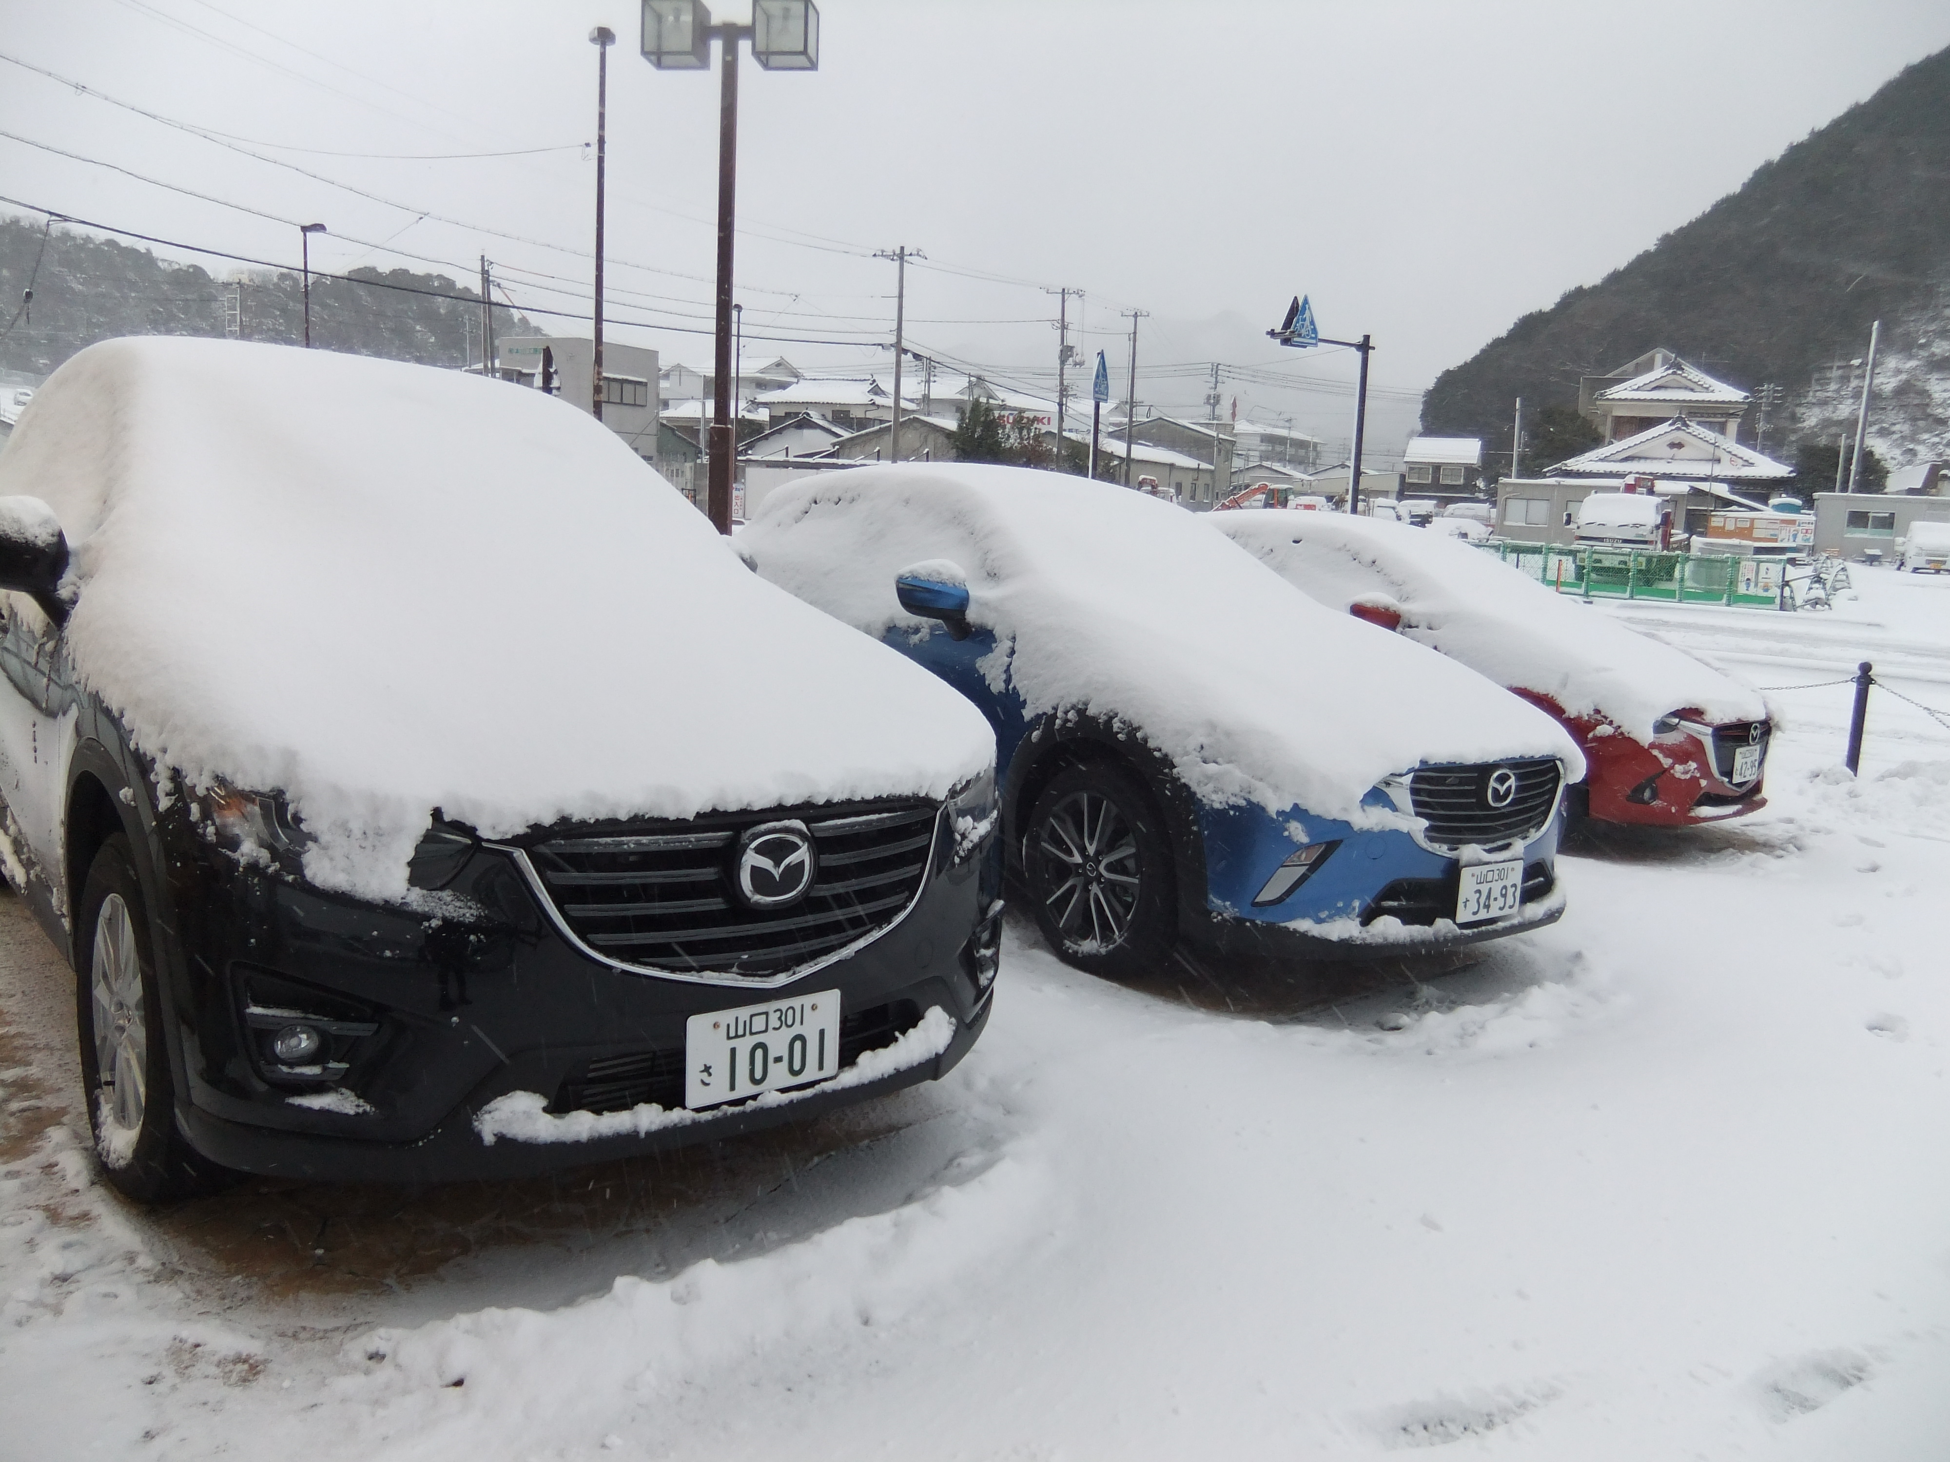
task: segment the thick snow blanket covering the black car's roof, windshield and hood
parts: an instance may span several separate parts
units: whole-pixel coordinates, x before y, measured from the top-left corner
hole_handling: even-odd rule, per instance
[[[78,589],[78,676],[158,766],[283,789],[306,871],[406,891],[505,836],[944,795],[987,723],[760,583],[620,437],[454,370],[205,339],[68,361],[0,454]],[[33,614],[12,596],[16,612]]]

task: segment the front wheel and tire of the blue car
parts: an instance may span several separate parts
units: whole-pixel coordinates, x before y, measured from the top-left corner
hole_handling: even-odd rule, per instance
[[[1049,780],[1022,867],[1043,938],[1076,969],[1131,979],[1178,942],[1172,842],[1150,793],[1119,766],[1067,766]]]

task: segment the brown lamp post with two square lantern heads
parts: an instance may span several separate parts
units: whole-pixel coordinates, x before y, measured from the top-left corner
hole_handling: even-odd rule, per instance
[[[718,351],[712,380],[710,487],[706,511],[731,532],[737,425],[731,417],[731,240],[737,203],[737,43],[766,70],[819,70],[819,6],[813,0],[753,0],[751,25],[712,23],[702,0],[644,0],[644,60],[657,70],[706,70],[712,37],[723,43],[718,99]]]

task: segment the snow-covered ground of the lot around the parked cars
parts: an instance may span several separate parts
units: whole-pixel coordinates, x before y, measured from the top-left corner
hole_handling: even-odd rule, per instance
[[[1605,606],[1950,708],[1950,581]],[[556,1181],[88,1177],[0,904],[0,1456],[1509,1458],[1950,1448],[1950,733],[1773,696],[1773,805],[1605,836],[1570,912],[1297,1012],[1012,930],[938,1086]]]

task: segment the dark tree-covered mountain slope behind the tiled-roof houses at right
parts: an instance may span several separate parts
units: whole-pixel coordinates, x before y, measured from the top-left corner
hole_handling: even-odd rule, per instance
[[[1548,468],[1564,460],[1556,437],[1576,417],[1578,378],[1663,345],[1743,390],[1780,386],[1763,450],[1796,462],[1804,444],[1823,444],[1833,470],[1880,320],[1870,442],[1893,466],[1950,458],[1946,308],[1950,51],[1940,51],[1597,285],[1441,372],[1422,400],[1422,429],[1480,437],[1488,460],[1507,468],[1521,396],[1525,470]],[[1739,439],[1753,444],[1757,425],[1749,407]]]

